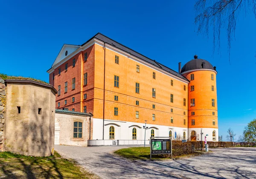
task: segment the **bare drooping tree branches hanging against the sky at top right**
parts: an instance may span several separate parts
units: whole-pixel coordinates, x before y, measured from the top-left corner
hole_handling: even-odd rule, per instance
[[[256,18],[256,0],[196,0],[195,25],[197,32],[207,35],[208,38],[209,27],[211,26],[214,53],[216,44],[218,45],[218,52],[220,52],[221,29],[227,30],[230,57],[231,41],[235,37],[237,17],[240,12],[243,12],[245,16],[248,10],[253,12]]]

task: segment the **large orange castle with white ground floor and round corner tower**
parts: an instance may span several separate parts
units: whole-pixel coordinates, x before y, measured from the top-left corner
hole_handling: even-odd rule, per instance
[[[144,141],[146,122],[146,140],[201,140],[202,129],[218,141],[217,72],[193,61],[202,68],[188,62],[175,72],[98,33],[80,46],[65,44],[47,72],[58,90],[56,109],[93,114],[92,140]]]

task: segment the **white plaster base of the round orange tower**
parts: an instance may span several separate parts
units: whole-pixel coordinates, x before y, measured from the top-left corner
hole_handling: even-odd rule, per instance
[[[196,136],[199,134],[199,141],[201,141],[201,129],[202,129],[202,140],[204,141],[204,136],[206,136],[208,134],[208,136],[206,137],[207,141],[212,141],[212,132],[213,130],[215,130],[215,138],[216,141],[218,141],[218,129],[216,128],[189,128],[189,136],[191,135],[191,131],[195,130],[196,132]]]

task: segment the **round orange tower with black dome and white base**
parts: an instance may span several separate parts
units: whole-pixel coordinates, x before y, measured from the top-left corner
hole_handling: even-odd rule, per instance
[[[208,61],[195,59],[187,62],[180,74],[187,78],[189,139],[218,141],[218,108],[216,88],[216,67]],[[202,133],[202,134],[201,134]]]

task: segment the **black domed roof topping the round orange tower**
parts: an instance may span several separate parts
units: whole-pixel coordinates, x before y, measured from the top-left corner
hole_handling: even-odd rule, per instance
[[[204,59],[197,58],[197,55],[194,56],[195,59],[187,62],[181,69],[180,73],[193,70],[193,69],[213,69],[212,64],[210,64],[209,61],[206,61]]]

